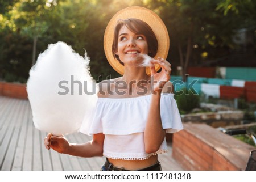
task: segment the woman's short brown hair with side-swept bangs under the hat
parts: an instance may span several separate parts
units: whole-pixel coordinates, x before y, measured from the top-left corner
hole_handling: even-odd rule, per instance
[[[118,45],[118,33],[122,26],[126,26],[130,31],[134,33],[141,33],[146,37],[148,45],[148,56],[155,57],[156,52],[158,51],[158,40],[156,39],[155,33],[152,31],[152,28],[140,19],[129,18],[121,19],[117,21],[117,26],[114,30],[114,40],[112,44],[112,54],[113,56],[123,65],[123,62],[119,59],[119,56],[115,54],[117,51]]]

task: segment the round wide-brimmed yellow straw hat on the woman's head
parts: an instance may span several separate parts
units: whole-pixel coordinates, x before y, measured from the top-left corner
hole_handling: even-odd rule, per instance
[[[143,20],[152,28],[156,39],[158,40],[158,52],[156,53],[155,58],[162,57],[166,59],[170,45],[167,28],[162,19],[160,19],[160,17],[154,11],[139,6],[131,6],[118,11],[112,17],[112,19],[110,19],[109,24],[106,27],[104,34],[104,50],[109,64],[121,75],[123,75],[124,72],[123,65],[120,64],[119,61],[113,56],[112,44],[114,39],[114,28],[117,25],[117,20],[127,18],[137,18]],[[160,65],[155,65],[155,69],[159,70]],[[146,72],[148,75],[151,74],[149,67],[146,68]]]

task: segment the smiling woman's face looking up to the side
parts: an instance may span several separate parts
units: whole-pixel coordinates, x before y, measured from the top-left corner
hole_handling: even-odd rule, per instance
[[[146,37],[130,31],[126,26],[122,26],[118,33],[117,49],[115,54],[124,64],[136,62],[138,54],[148,54]]]

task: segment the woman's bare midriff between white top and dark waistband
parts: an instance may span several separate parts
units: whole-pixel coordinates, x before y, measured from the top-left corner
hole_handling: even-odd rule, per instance
[[[111,159],[108,161],[114,166],[123,167],[126,170],[139,170],[154,165],[158,162],[158,155],[153,155],[145,160],[121,160],[121,159]]]

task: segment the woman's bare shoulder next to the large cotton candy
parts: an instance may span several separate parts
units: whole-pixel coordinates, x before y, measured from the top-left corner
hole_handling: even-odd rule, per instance
[[[109,98],[111,93],[115,88],[115,83],[119,80],[119,78],[107,79],[98,83],[98,97],[99,98]]]

